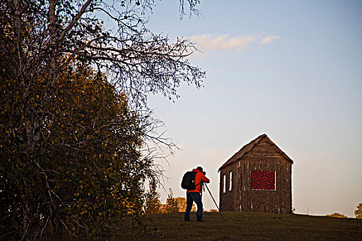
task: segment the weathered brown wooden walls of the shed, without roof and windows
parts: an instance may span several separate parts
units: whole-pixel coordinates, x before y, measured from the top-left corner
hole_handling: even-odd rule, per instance
[[[275,171],[275,190],[252,190],[250,171]],[[232,191],[228,191],[228,174],[232,171]],[[227,178],[227,190],[223,193],[223,175]],[[290,213],[292,211],[292,163],[280,151],[261,140],[248,154],[236,163],[220,171],[221,211],[257,211],[268,213]]]

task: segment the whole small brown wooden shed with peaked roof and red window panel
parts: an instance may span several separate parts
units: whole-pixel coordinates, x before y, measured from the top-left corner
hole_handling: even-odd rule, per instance
[[[220,168],[221,211],[292,212],[292,164],[266,134]]]

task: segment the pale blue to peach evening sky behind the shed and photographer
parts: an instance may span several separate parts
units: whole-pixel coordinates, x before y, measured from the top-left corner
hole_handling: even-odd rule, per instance
[[[294,161],[296,213],[354,217],[362,202],[362,1],[201,1],[179,19],[179,1],[155,1],[148,28],[190,38],[204,87],[181,85],[175,103],[150,96],[179,150],[163,185],[202,166],[219,205],[219,167],[261,134]],[[162,201],[167,191],[160,189]],[[203,195],[204,209],[215,209]]]

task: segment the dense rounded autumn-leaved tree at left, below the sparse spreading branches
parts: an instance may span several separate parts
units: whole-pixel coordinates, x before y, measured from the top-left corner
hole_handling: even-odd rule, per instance
[[[38,81],[41,88],[43,81]],[[10,90],[10,91],[9,91]],[[3,88],[11,95],[12,88]],[[36,93],[36,92],[35,92]],[[79,94],[81,93],[81,94]],[[10,98],[6,98],[10,99]],[[31,98],[37,106],[36,96]],[[91,69],[59,78],[41,122],[41,139],[28,151],[21,110],[14,119],[10,104],[1,105],[1,226],[15,239],[37,240],[44,233],[66,231],[78,237],[102,235],[126,217],[139,216],[142,183],[151,160],[139,147],[145,131],[103,76]],[[17,109],[15,109],[17,111]],[[18,236],[19,235],[19,236]]]

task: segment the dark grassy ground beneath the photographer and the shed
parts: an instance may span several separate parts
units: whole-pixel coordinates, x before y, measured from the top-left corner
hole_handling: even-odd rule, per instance
[[[143,232],[117,240],[362,240],[362,220],[270,213],[204,213],[205,222],[183,222],[183,213],[152,214]]]

